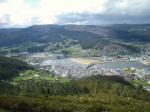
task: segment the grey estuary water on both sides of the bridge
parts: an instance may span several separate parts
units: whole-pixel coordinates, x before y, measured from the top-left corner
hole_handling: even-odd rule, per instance
[[[72,61],[71,59],[54,59],[54,60],[46,60],[41,63],[41,65],[63,65],[63,66],[79,66],[86,67],[86,64],[79,64],[77,62]],[[120,68],[129,68],[134,67],[137,69],[150,68],[150,66],[145,65],[138,61],[121,61],[121,62],[105,62],[101,64],[94,65],[93,67],[107,68],[107,69],[120,69]]]

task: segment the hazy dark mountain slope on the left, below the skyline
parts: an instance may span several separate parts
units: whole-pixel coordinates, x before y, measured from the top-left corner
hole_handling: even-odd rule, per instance
[[[7,46],[28,41],[38,43],[59,42],[63,40],[62,36],[78,40],[79,42],[86,42],[101,37],[90,32],[65,30],[58,25],[35,25],[17,32],[0,34],[0,45]]]

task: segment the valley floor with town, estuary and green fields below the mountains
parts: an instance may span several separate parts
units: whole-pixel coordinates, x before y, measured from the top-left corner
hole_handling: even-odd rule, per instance
[[[119,40],[111,41],[137,47],[140,52],[132,52],[116,45],[106,46],[102,49],[83,49],[79,44],[64,50],[65,46],[59,42],[50,44],[49,49],[46,48],[44,52],[26,52],[26,50],[18,52],[15,47],[14,50],[4,47],[1,48],[0,53],[46,70],[49,72],[49,76],[53,76],[57,81],[61,77],[77,80],[96,74],[117,75],[128,81],[136,82],[135,85],[142,84],[144,88],[149,90],[150,44],[136,41],[128,43]],[[37,45],[37,43],[29,43],[29,45]],[[55,50],[58,46],[60,48]],[[26,44],[21,48],[25,47]]]

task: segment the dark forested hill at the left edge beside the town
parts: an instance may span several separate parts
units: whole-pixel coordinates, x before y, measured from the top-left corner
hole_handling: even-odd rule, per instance
[[[32,69],[32,67],[22,61],[0,56],[0,80],[10,79],[26,69]]]

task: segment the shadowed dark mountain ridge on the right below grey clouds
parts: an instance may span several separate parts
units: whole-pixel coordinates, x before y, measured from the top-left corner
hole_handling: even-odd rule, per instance
[[[139,40],[150,41],[150,24],[145,25],[130,25],[130,24],[116,24],[116,25],[66,25],[67,30],[85,31],[100,35],[107,38],[117,38],[126,41]]]

